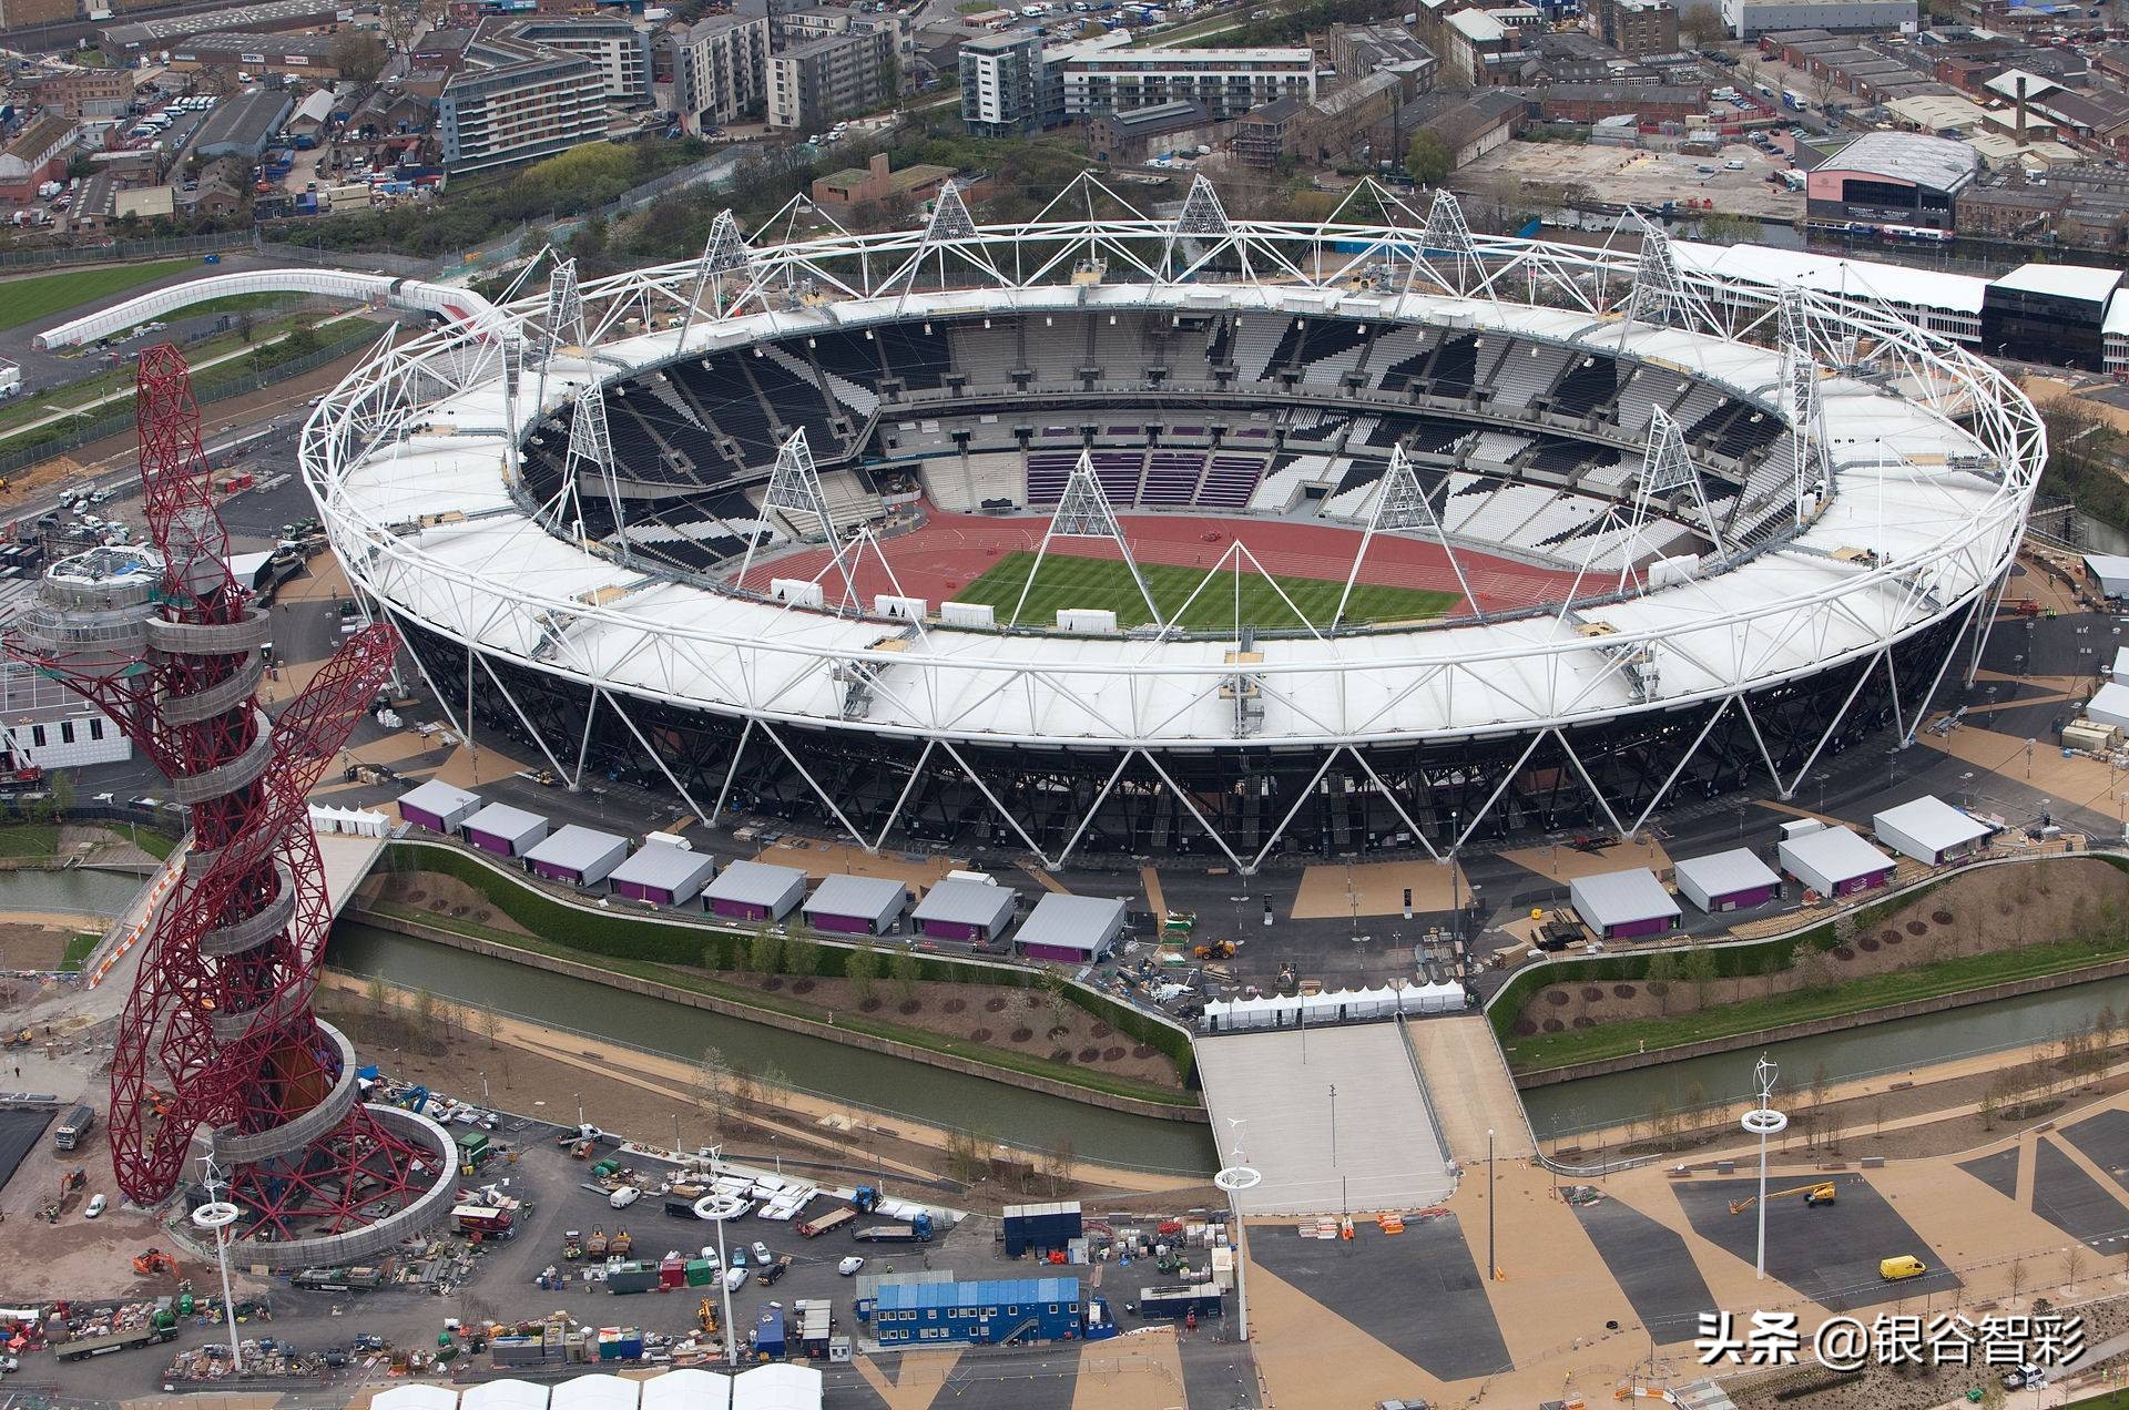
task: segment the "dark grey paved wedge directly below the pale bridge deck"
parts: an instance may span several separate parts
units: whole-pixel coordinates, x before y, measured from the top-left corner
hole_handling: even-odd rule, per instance
[[[1305,1240],[1250,1229],[1250,1257],[1407,1361],[1441,1380],[1507,1367],[1478,1263],[1454,1214],[1388,1235],[1363,1225],[1352,1240]]]

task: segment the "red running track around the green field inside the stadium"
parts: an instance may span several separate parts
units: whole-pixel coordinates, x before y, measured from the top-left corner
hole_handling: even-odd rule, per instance
[[[1035,552],[1050,526],[1045,518],[999,520],[977,513],[950,513],[926,507],[924,528],[881,541],[894,577],[901,579],[905,596],[922,596],[928,603],[950,601],[967,584],[988,573],[1005,554],[1013,550]],[[1294,524],[1290,520],[1248,520],[1248,518],[1177,518],[1177,515],[1118,515],[1130,552],[1139,562],[1167,562],[1209,569],[1220,562],[1220,554],[1235,539],[1265,564],[1267,573],[1280,577],[1318,577],[1346,581],[1352,556],[1360,547],[1360,530],[1333,524]],[[1118,558],[1113,543],[1105,539],[1062,539],[1050,545],[1052,554],[1077,558]],[[1458,550],[1456,562],[1471,579],[1486,611],[1509,611],[1537,603],[1561,601],[1573,584],[1573,573],[1556,569],[1533,569],[1507,558],[1492,558],[1473,550]],[[749,588],[769,590],[773,577],[813,577],[828,567],[828,550],[805,550],[777,558],[769,564],[754,564],[747,577]],[[858,594],[871,605],[875,594],[892,592],[894,586],[881,571],[873,554],[864,554],[856,571]],[[1418,588],[1426,592],[1458,594],[1456,571],[1439,543],[1377,537],[1360,564],[1360,581],[1382,588]],[[826,584],[828,596],[841,594],[839,584]]]

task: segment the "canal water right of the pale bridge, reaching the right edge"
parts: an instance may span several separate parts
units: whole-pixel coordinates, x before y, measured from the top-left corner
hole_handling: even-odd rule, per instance
[[[2025,1050],[2069,1029],[2091,1027],[2093,1014],[2106,1005],[2112,1005],[2116,1014],[2129,1014],[2129,978],[2093,980],[2091,984],[1995,999],[1942,1014],[1893,1018],[1844,1033],[1795,1037],[1765,1044],[1765,1048],[1739,1048],[1661,1067],[1539,1086],[1522,1093],[1522,1103],[1531,1112],[1531,1131],[1539,1140],[1554,1140],[1646,1116],[1656,1097],[1663,1097],[1673,1112],[1701,1103],[1737,1105],[1752,1095],[1752,1065],[1761,1052],[1782,1069],[1782,1080],[1797,1091],[1810,1086],[1820,1063],[1829,1080],[1846,1082],[1905,1071],[1925,1063]],[[1693,1091],[1695,1086],[1699,1091]]]

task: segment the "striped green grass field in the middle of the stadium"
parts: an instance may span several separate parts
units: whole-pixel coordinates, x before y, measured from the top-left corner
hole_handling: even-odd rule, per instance
[[[954,601],[990,603],[1003,624],[1011,616],[1013,603],[1020,601],[1020,588],[1033,569],[1035,554],[1005,554],[990,571],[956,592]],[[1190,592],[1205,581],[1207,569],[1141,562],[1139,573],[1145,577],[1148,592],[1160,603],[1160,616],[1173,618],[1190,601]],[[1316,626],[1322,630],[1331,624],[1337,596],[1346,588],[1343,581],[1322,577],[1277,577],[1280,592],[1286,592],[1294,607],[1307,613],[1309,620],[1303,622],[1292,607],[1280,601],[1271,581],[1262,573],[1241,573],[1243,626],[1258,630]],[[1346,603],[1346,624],[1439,618],[1456,603],[1454,592],[1356,584],[1352,601]],[[1026,626],[1052,626],[1060,607],[1107,607],[1116,613],[1116,624],[1126,630],[1150,620],[1145,599],[1130,581],[1130,569],[1116,558],[1071,558],[1064,554],[1043,558],[1043,571],[1035,579],[1035,590],[1028,592],[1028,605],[1020,609],[1020,620]],[[1231,630],[1235,626],[1235,575],[1222,573],[1220,581],[1207,584],[1182,613],[1182,622],[1171,624],[1186,630]]]

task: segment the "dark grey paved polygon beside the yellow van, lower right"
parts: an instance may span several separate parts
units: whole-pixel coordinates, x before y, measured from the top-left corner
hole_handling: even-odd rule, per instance
[[[1805,1184],[1799,1178],[1795,1184]],[[1780,1278],[1833,1312],[1908,1301],[1948,1293],[1959,1278],[1944,1269],[1944,1257],[1918,1235],[1893,1206],[1861,1176],[1837,1176],[1839,1201],[1805,1206],[1801,1197],[1767,1203],[1767,1276]],[[1710,1244],[1752,1263],[1759,1218],[1748,1210],[1731,1214],[1731,1201],[1756,1193],[1756,1180],[1690,1180],[1671,1186],[1693,1220],[1693,1231]],[[1784,1186],[1786,1188],[1786,1186]],[[1931,1267],[1920,1278],[1884,1282],[1878,1261],[1914,1255]]]

